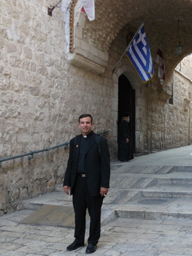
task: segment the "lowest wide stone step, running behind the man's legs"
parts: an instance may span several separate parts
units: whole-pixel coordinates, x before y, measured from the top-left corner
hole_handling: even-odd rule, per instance
[[[115,192],[115,191],[114,191]],[[126,198],[130,193],[132,199]],[[141,195],[142,194],[142,195]],[[114,195],[107,195],[102,207],[101,223],[107,224],[116,217],[136,219],[191,219],[191,198],[155,197],[155,194],[146,192],[125,191],[124,197],[118,194],[115,200]],[[111,198],[110,198],[111,197]],[[24,200],[20,208],[38,211],[42,206],[62,206],[72,208],[72,197],[64,196],[64,192],[52,192],[42,197]],[[35,215],[34,215],[35,216]]]

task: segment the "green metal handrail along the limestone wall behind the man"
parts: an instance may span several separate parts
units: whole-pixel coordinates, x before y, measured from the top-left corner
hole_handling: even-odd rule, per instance
[[[103,132],[98,132],[97,134],[98,135],[101,135],[102,133],[107,133],[107,132],[110,132],[109,129],[107,129],[106,131],[103,131]],[[65,149],[68,147],[67,145],[69,145],[69,142],[66,142],[66,143],[63,143],[63,144],[60,144],[60,145],[57,145],[57,146],[53,146],[51,148],[45,148],[45,149],[40,149],[38,151],[31,151],[31,152],[28,152],[26,154],[20,154],[18,156],[14,156],[14,157],[7,157],[7,158],[4,158],[4,159],[0,159],[0,162],[4,162],[4,161],[8,161],[8,160],[11,160],[11,159],[15,159],[15,158],[19,158],[19,157],[26,157],[26,156],[31,156],[31,157],[28,157],[28,159],[33,159],[34,158],[34,154],[38,154],[40,152],[44,152],[44,151],[50,151],[52,149],[55,149],[55,148],[60,148],[62,146],[66,146]]]

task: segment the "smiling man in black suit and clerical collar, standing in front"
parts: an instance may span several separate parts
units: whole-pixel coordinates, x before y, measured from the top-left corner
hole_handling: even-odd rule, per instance
[[[91,222],[85,253],[91,254],[96,251],[100,238],[101,206],[110,187],[110,153],[107,139],[92,131],[93,118],[90,114],[79,117],[79,128],[81,134],[69,143],[64,176],[64,192],[73,196],[75,215],[75,239],[66,249],[73,251],[85,245],[85,215],[88,209]]]

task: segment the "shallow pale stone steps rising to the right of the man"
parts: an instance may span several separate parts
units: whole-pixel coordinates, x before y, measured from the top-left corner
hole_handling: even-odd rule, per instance
[[[112,165],[105,204],[118,217],[192,219],[192,167]]]

